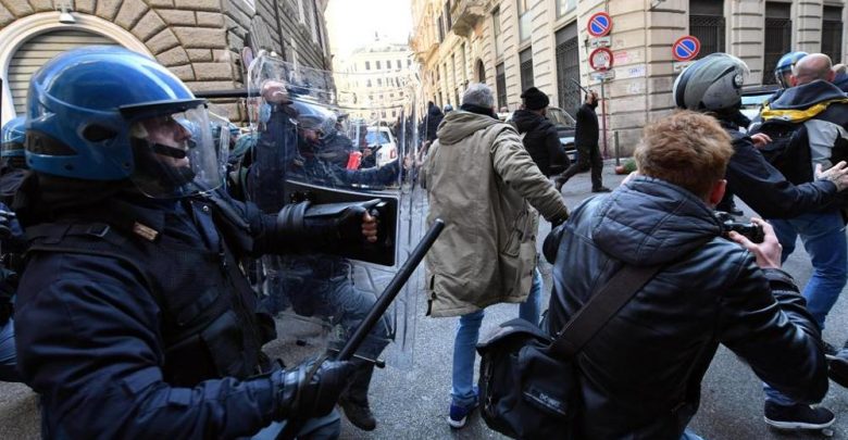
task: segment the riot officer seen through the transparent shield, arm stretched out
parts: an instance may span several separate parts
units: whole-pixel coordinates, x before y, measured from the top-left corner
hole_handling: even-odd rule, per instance
[[[272,109],[262,124],[265,129],[253,139],[255,162],[247,181],[252,200],[264,211],[275,212],[283,206],[286,198],[280,192],[286,179],[346,189],[385,187],[398,180],[399,160],[381,167],[347,169],[326,155],[327,150],[334,149],[327,143],[328,134],[336,135],[336,116],[327,109],[290,99],[284,83],[267,80],[261,90]],[[266,262],[265,269],[271,287],[266,304],[271,312],[280,312],[290,304],[299,315],[332,317],[348,336],[376,302],[374,294],[354,286],[350,262],[339,256],[280,256]],[[376,359],[388,344],[390,332],[387,318],[379,319],[359,354]],[[376,428],[367,399],[374,363],[362,357],[353,361],[357,372],[339,404],[356,427],[370,431]]]

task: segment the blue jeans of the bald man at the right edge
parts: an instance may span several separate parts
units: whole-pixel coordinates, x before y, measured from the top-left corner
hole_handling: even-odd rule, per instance
[[[801,293],[807,300],[807,310],[824,329],[824,318],[848,279],[848,240],[841,214],[838,211],[810,213],[770,223],[783,246],[783,261],[795,250],[796,238],[801,237],[813,266],[813,274]],[[763,390],[765,400],[778,405],[796,403],[768,384],[763,385]]]

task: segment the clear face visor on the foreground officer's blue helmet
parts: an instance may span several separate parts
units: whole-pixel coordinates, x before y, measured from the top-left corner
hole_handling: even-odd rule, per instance
[[[219,151],[204,105],[134,122],[130,180],[152,198],[207,192],[222,183]]]

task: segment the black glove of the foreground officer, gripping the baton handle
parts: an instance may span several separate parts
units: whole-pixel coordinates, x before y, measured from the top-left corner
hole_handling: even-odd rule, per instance
[[[356,367],[347,361],[323,361],[315,368],[315,362],[310,360],[271,375],[276,389],[275,420],[320,417],[336,406]]]

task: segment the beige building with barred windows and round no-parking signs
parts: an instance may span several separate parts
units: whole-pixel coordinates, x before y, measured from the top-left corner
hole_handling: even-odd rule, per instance
[[[846,58],[846,0],[412,0],[412,50],[425,96],[459,102],[469,81],[497,92],[499,108],[515,110],[535,86],[551,105],[574,114],[582,93],[573,81],[601,92],[608,156],[629,155],[641,128],[673,110],[674,78],[685,63],[672,46],[700,40],[697,58],[728,52],[751,74],[746,86],[774,84],[777,60],[791,50]],[[601,87],[589,66],[595,49],[586,25],[597,12],[612,18],[609,49],[614,77]],[[601,109],[599,109],[601,110]]]

